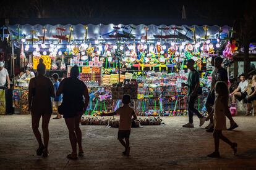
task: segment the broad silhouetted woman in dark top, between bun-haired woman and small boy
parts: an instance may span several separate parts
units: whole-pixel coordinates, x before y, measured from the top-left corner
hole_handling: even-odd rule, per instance
[[[82,132],[79,127],[82,114],[85,112],[89,102],[88,89],[83,81],[80,81],[79,68],[77,65],[71,68],[70,77],[64,78],[59,84],[56,95],[63,94],[62,113],[69,129],[69,139],[72,153],[67,155],[69,159],[77,159],[77,144],[79,145],[79,155],[83,155]],[[83,102],[83,96],[85,102]]]

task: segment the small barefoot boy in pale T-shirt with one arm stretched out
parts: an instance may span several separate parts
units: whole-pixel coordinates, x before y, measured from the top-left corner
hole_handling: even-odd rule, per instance
[[[124,94],[122,96],[122,107],[118,108],[113,113],[102,113],[101,116],[113,116],[120,115],[118,140],[124,146],[125,150],[122,152],[123,155],[129,156],[130,154],[130,127],[132,126],[132,119],[137,119],[134,109],[130,108],[130,95]],[[132,118],[133,117],[133,118]]]

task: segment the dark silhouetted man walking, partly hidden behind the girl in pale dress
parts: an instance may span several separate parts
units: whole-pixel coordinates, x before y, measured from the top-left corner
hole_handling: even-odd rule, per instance
[[[210,114],[213,110],[213,105],[215,102],[215,84],[217,81],[224,81],[226,84],[228,84],[228,72],[225,68],[223,68],[222,62],[223,59],[221,57],[216,57],[214,59],[211,59],[211,64],[215,66],[215,69],[211,73],[211,92],[207,97],[207,102],[205,103],[205,106],[207,107],[207,112]],[[230,113],[225,113],[227,118],[230,120],[231,126],[229,127],[229,131],[235,129],[238,127],[238,125],[235,123],[234,119],[232,118]],[[207,132],[213,132],[213,115],[210,116],[210,124],[207,126]]]

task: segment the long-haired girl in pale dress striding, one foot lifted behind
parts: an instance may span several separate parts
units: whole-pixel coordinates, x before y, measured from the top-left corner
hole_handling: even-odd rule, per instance
[[[226,130],[225,112],[229,111],[228,86],[226,83],[224,83],[224,81],[218,81],[216,83],[215,91],[216,91],[216,99],[215,99],[215,105],[214,105],[214,131],[213,131],[215,152],[207,156],[211,158],[220,157],[220,152],[219,152],[220,139],[223,140],[223,142],[226,142],[227,144],[229,144],[233,149],[234,155],[236,155],[237,144],[231,142],[228,138],[224,137],[222,134],[222,131]]]

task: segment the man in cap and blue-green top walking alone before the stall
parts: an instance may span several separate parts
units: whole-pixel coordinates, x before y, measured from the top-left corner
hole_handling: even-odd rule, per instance
[[[199,113],[195,108],[195,101],[198,99],[197,90],[199,87],[199,73],[194,68],[195,61],[190,59],[187,60],[187,68],[190,70],[189,77],[187,79],[187,84],[182,83],[182,86],[187,86],[187,110],[189,111],[189,123],[184,124],[182,127],[194,127],[193,115],[194,113],[200,119],[200,125],[202,126],[205,123],[205,117]]]

